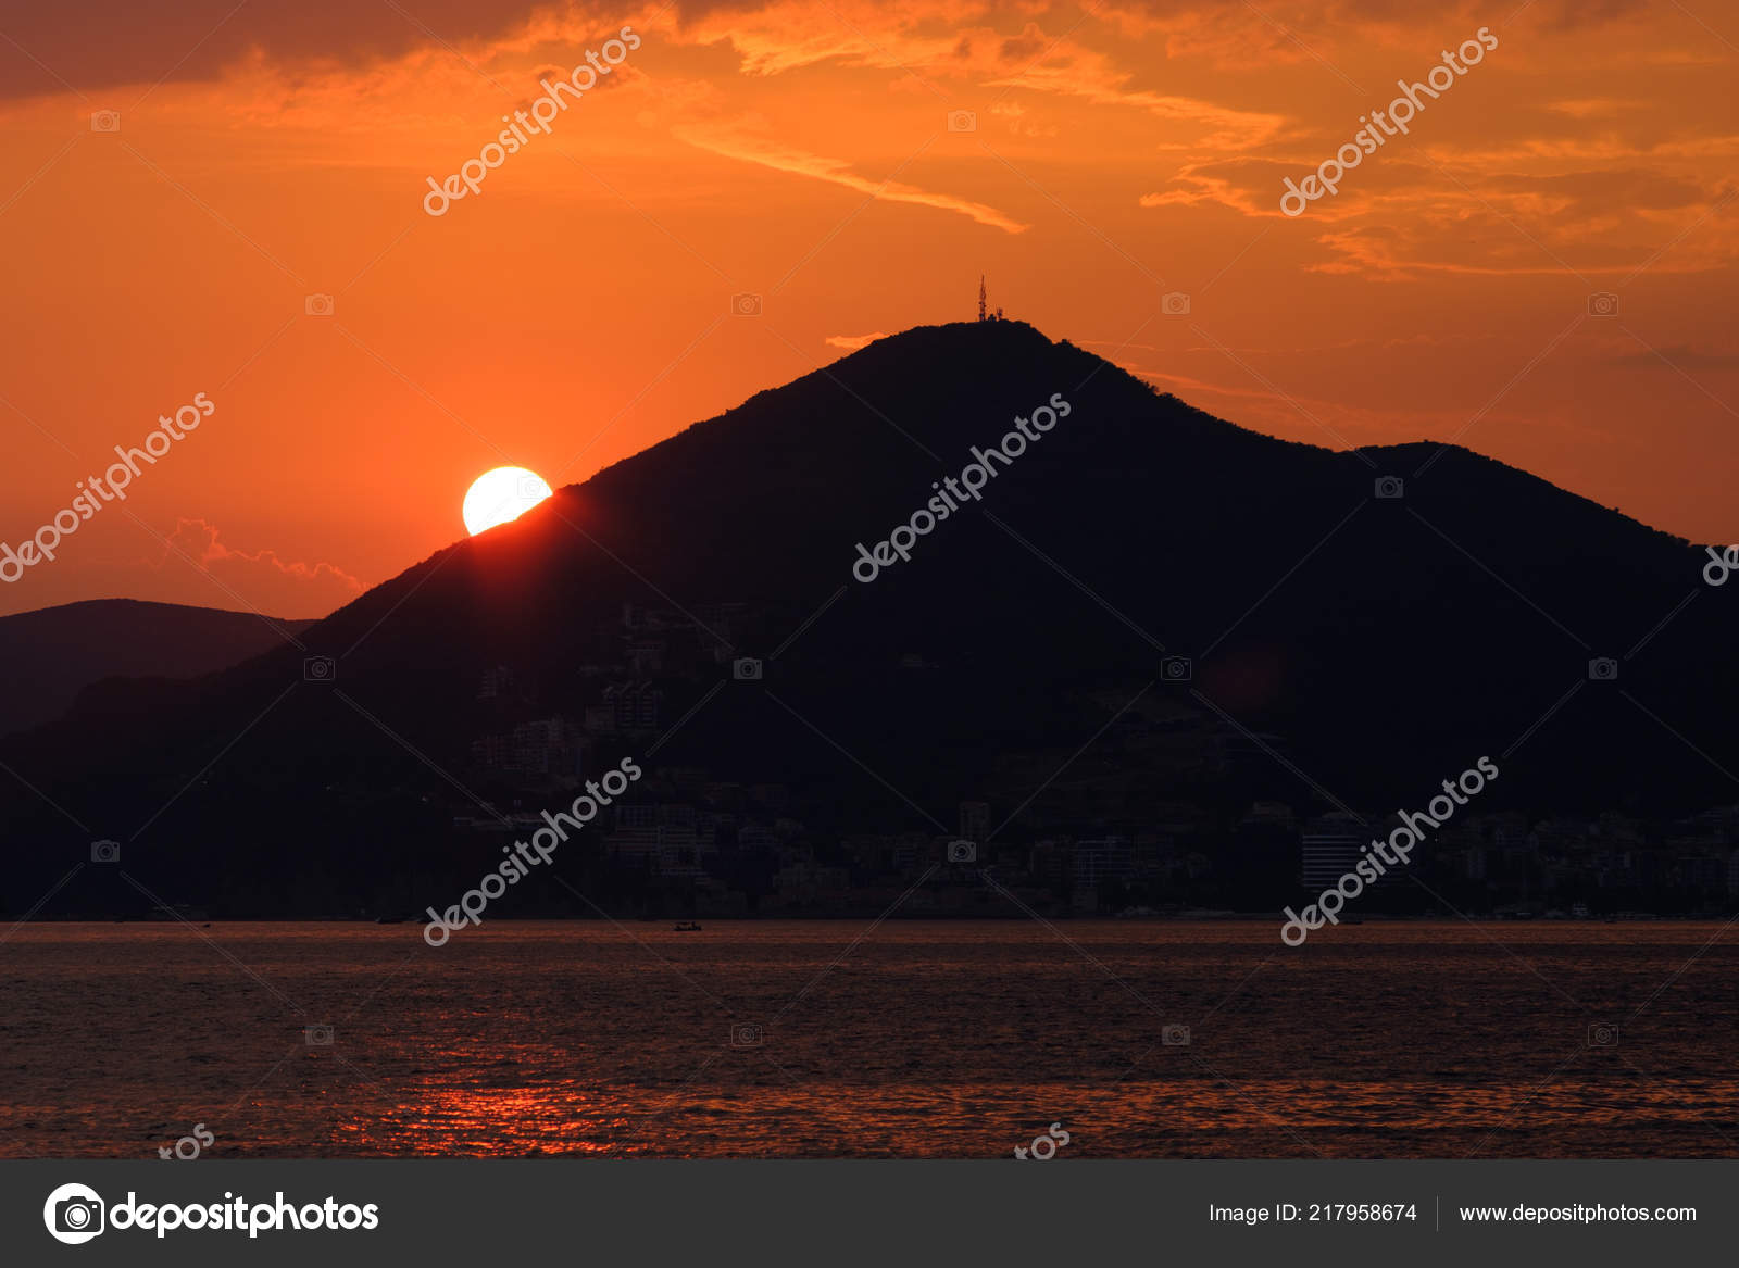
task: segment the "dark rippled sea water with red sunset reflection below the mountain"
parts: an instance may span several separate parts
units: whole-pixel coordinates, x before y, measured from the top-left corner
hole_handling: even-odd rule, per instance
[[[0,1153],[1739,1157],[1739,931],[40,924]],[[320,1030],[330,1026],[330,1044]],[[1188,1042],[1169,1026],[1188,1026]],[[1607,1042],[1614,1040],[1614,1042]]]

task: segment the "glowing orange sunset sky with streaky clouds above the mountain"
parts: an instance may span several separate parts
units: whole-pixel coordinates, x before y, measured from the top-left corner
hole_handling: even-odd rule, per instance
[[[1711,0],[42,9],[0,16],[0,541],[216,409],[0,612],[325,614],[463,536],[480,471],[583,480],[970,317],[981,271],[1245,426],[1459,440],[1739,537],[1739,17]],[[423,210],[624,24],[640,49],[548,136]],[[1482,26],[1409,136],[1280,212]]]

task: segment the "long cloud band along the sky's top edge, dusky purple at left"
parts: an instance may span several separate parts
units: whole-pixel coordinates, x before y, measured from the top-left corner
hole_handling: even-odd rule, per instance
[[[1031,56],[1050,61],[1057,28],[1158,40],[1172,63],[1249,71],[1250,66],[1334,63],[1348,45],[1405,47],[1417,31],[1416,7],[1403,0],[1120,0],[1054,10],[1043,0],[676,0],[636,7],[602,0],[137,0],[16,3],[0,40],[0,99],[120,85],[212,83],[237,73],[332,75],[417,56],[466,71],[489,68],[497,54],[605,38],[624,21],[680,45],[729,43],[743,70],[777,75],[836,63],[913,75],[983,71]],[[1614,23],[1657,24],[1645,0],[1530,0],[1529,24],[1581,35]],[[1471,0],[1438,5],[1435,23],[1490,21]],[[1687,23],[1694,43],[1680,59],[1718,56],[1706,28]],[[1715,52],[1709,52],[1713,49]],[[1659,56],[1659,54],[1657,54]],[[125,106],[127,103],[111,103]]]

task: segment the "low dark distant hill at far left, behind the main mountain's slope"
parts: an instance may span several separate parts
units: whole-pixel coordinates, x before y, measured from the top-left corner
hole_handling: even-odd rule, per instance
[[[61,717],[101,678],[190,678],[259,656],[313,621],[136,598],[0,616],[0,734]]]

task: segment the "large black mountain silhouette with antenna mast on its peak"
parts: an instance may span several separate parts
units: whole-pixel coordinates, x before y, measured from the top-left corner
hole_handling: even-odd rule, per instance
[[[1052,397],[1066,416],[979,501],[854,576],[859,544]],[[635,755],[654,802],[767,790],[744,797],[823,854],[953,833],[962,802],[1010,842],[1179,805],[1417,809],[1482,755],[1502,769],[1482,809],[1676,816],[1732,800],[1739,769],[1732,600],[1704,562],[1456,445],[1283,442],[1021,322],[920,327],[556,491],[294,644],[191,684],[103,684],[0,753],[176,898],[235,913],[454,901],[494,851],[454,816],[565,800],[478,757],[541,718],[584,732],[584,771]],[[1616,675],[1591,673],[1605,657]],[[656,704],[588,722],[623,692]],[[12,898],[83,838],[3,797]],[[588,896],[614,884],[607,831],[563,859]]]

